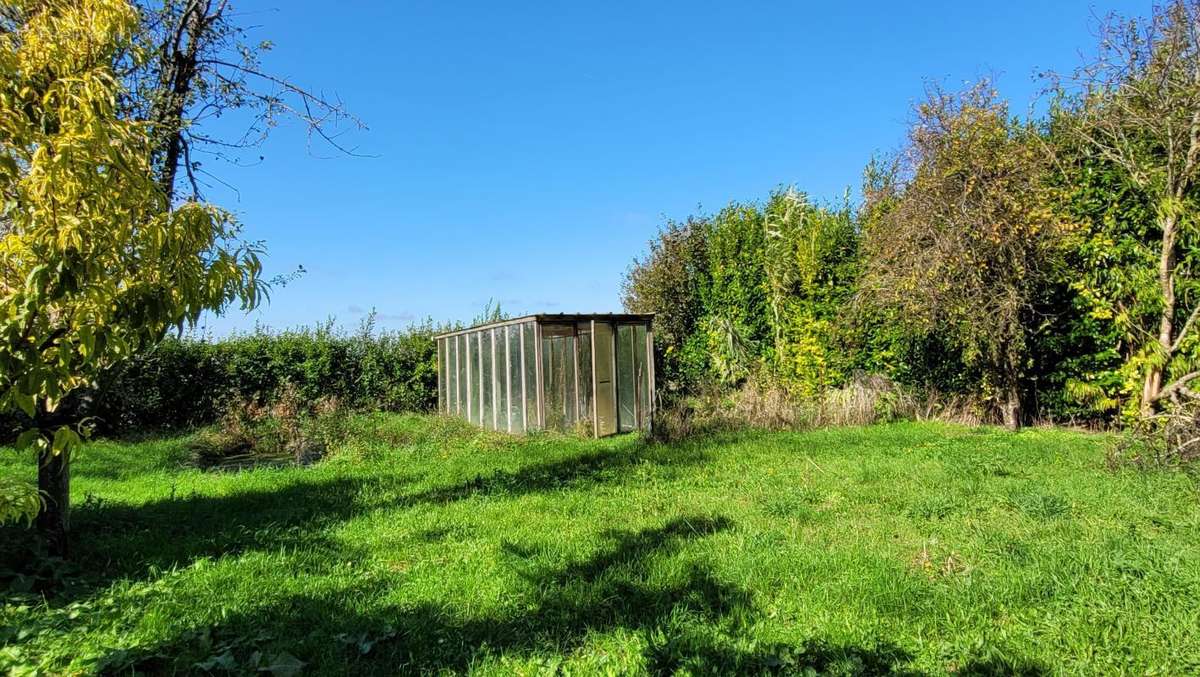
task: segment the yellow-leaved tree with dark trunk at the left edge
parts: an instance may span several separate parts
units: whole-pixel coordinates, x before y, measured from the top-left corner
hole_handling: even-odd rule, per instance
[[[32,420],[53,551],[66,551],[64,399],[206,310],[264,296],[260,246],[224,211],[170,205],[156,132],[122,113],[127,0],[5,0],[0,30],[0,408]],[[4,510],[0,509],[0,514]]]

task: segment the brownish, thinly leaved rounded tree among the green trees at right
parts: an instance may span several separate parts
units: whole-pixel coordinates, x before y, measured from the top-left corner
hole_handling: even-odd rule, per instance
[[[1055,220],[1044,154],[989,83],[931,89],[916,109],[895,181],[864,234],[859,301],[936,328],[980,367],[1004,424],[1021,425],[1027,316],[1050,271]]]

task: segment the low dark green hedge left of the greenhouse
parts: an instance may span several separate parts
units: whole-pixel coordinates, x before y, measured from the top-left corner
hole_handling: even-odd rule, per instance
[[[104,432],[212,423],[224,403],[265,403],[284,384],[305,400],[353,408],[437,406],[436,331],[341,334],[329,328],[258,331],[220,340],[168,338],[114,370],[86,407]]]

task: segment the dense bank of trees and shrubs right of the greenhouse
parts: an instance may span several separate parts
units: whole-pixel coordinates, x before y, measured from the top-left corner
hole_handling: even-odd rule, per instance
[[[878,376],[1009,427],[1195,444],[1176,424],[1200,412],[1200,4],[1099,32],[1093,59],[1046,76],[1044,118],[988,82],[930,86],[858,205],[786,188],[667,223],[624,300],[658,313],[668,403],[748,388],[818,411]]]

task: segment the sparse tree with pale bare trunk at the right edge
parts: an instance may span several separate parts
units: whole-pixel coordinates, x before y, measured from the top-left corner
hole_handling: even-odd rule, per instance
[[[1093,247],[1110,263],[1088,266],[1080,280],[1096,312],[1115,318],[1134,345],[1129,367],[1140,375],[1140,411],[1150,414],[1200,378],[1200,2],[1174,0],[1146,22],[1110,17],[1091,62],[1049,77],[1055,127],[1072,142],[1063,170],[1116,170],[1151,205],[1148,222],[1132,224],[1140,230],[1133,246]],[[1120,244],[1105,240],[1103,224],[1090,228],[1092,245]],[[1110,253],[1148,265],[1116,268]]]

